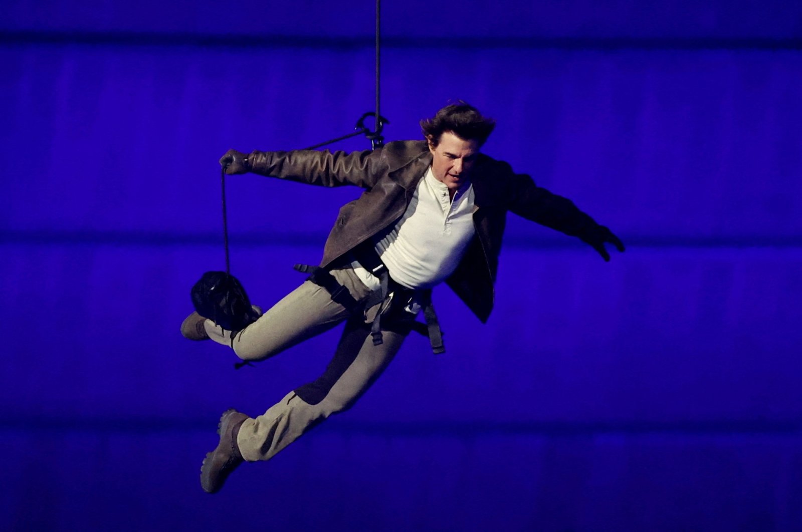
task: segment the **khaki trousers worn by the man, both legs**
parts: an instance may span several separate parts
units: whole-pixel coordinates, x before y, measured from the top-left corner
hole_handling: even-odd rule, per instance
[[[214,341],[230,345],[243,360],[255,361],[346,320],[337,350],[322,376],[242,424],[237,444],[247,461],[269,460],[326,417],[348,409],[390,364],[410,331],[415,316],[405,312],[395,318],[383,316],[383,343],[373,345],[366,321],[379,311],[379,292],[371,292],[351,268],[332,270],[331,275],[360,303],[354,314],[334,303],[325,288],[307,280],[233,339],[211,320],[205,322]]]

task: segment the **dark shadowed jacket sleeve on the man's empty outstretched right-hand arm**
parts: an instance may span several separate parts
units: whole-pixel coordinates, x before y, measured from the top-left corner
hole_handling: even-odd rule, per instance
[[[510,212],[581,240],[594,238],[601,226],[573,201],[538,187],[529,175],[515,174],[508,164],[503,164],[508,170],[506,197]]]

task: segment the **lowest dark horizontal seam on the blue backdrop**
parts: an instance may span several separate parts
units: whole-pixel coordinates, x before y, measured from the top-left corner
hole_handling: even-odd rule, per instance
[[[206,433],[209,420],[178,419],[65,419],[27,418],[0,420],[2,432],[47,433]],[[404,421],[375,422],[339,420],[321,426],[319,433],[367,434],[393,437],[484,437],[484,436],[789,436],[802,437],[800,421],[631,421],[631,422],[490,422]]]

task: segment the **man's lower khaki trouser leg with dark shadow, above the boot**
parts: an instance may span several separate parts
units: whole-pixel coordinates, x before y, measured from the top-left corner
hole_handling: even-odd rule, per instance
[[[242,457],[269,460],[326,417],[348,409],[387,368],[408,332],[408,328],[383,331],[383,344],[373,345],[370,325],[358,317],[348,320],[322,377],[243,422],[237,436]]]

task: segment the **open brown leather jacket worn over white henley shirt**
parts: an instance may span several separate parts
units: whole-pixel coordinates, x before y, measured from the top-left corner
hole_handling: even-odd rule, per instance
[[[407,210],[415,187],[431,165],[424,141],[387,143],[375,151],[253,151],[250,171],[302,183],[365,191],[342,206],[323,251],[321,266],[345,256],[354,246],[381,232]],[[570,200],[537,187],[529,175],[480,154],[472,169],[476,236],[446,283],[468,308],[487,321],[493,306],[501,239],[507,212],[557,229],[589,237],[599,226]],[[583,239],[584,240],[584,239]]]

